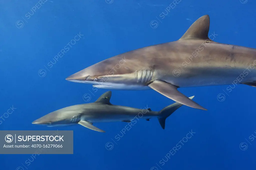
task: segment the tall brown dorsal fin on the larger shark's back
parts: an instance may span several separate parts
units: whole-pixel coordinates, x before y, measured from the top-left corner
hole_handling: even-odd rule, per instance
[[[210,40],[208,37],[210,28],[210,17],[204,15],[197,19],[180,38],[180,40]],[[214,42],[210,40],[211,42]]]

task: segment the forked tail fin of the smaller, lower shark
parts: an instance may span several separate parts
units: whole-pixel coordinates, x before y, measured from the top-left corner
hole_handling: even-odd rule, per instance
[[[194,96],[189,97],[189,99],[193,99],[193,98],[194,98]],[[165,128],[166,118],[169,117],[173,112],[175,112],[182,105],[183,104],[176,102],[176,103],[173,103],[173,104],[163,108],[161,111],[159,111],[158,121],[163,129]]]

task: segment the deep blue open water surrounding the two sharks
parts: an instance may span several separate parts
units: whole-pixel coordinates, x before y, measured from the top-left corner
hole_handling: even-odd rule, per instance
[[[31,124],[60,108],[94,102],[107,91],[66,81],[69,75],[117,54],[175,41],[203,15],[210,16],[209,35],[217,34],[214,41],[256,48],[255,1],[182,0],[176,6],[172,2],[0,1],[0,116],[16,108],[1,119],[0,130],[74,133],[73,154],[41,154],[34,160],[31,154],[0,155],[0,169],[253,169],[256,88],[246,85],[231,92],[229,86],[179,89],[186,96],[195,95],[208,111],[182,106],[167,118],[165,130],[157,119],[140,120],[118,141],[115,136],[122,136],[127,123],[95,124],[106,133],[80,125]],[[33,13],[35,6],[39,9]],[[77,34],[79,40],[54,61]],[[90,94],[90,101],[85,94]],[[173,101],[153,90],[112,90],[111,103],[159,111]],[[184,138],[191,131],[193,136]]]

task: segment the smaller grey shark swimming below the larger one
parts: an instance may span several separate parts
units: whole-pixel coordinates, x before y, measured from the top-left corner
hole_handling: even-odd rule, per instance
[[[175,112],[180,106],[178,102],[173,103],[161,111],[152,111],[150,108],[142,109],[126,106],[113,105],[110,103],[111,91],[102,94],[98,100],[93,103],[78,104],[59,109],[51,112],[32,122],[32,124],[47,126],[68,126],[79,124],[91,130],[105,132],[95,126],[96,122],[129,122],[132,124],[133,119],[149,120],[157,117],[161,127],[165,128],[165,119]],[[190,99],[193,99],[191,96]],[[131,125],[130,125],[131,126]]]

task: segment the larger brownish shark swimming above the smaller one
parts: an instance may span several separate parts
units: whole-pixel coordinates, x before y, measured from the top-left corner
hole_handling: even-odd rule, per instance
[[[256,49],[214,42],[208,37],[209,27],[209,16],[202,16],[177,41],[108,58],[66,80],[105,89],[151,88],[176,102],[206,110],[177,88],[256,86]]]

